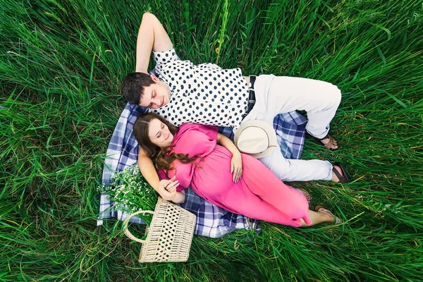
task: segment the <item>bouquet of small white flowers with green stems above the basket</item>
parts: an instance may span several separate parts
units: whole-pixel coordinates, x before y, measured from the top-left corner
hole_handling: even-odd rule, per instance
[[[140,209],[154,211],[159,196],[142,176],[137,164],[115,173],[110,178],[109,185],[99,186],[98,190],[110,195],[109,199],[115,202],[112,209],[128,214],[138,212]]]

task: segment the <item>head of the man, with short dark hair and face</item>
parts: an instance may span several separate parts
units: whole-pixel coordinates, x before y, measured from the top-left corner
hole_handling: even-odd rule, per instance
[[[156,75],[130,73],[123,79],[123,96],[131,104],[147,106],[152,109],[168,104],[171,93],[168,85]]]

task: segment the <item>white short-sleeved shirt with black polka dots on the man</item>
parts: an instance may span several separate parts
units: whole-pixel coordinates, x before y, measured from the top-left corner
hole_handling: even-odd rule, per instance
[[[247,109],[248,90],[240,68],[223,70],[213,63],[180,61],[175,50],[153,52],[159,79],[171,100],[151,111],[176,126],[183,123],[238,128]]]

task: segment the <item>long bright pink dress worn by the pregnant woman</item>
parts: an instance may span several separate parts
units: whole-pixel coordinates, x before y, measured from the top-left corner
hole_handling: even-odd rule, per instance
[[[175,175],[181,191],[191,186],[200,197],[216,206],[243,214],[252,219],[280,223],[288,226],[301,226],[303,219],[310,224],[308,202],[301,192],[284,184],[269,168],[248,154],[241,154],[243,176],[234,183],[231,173],[232,154],[225,147],[217,145],[217,127],[185,123],[173,137],[172,152],[200,155],[201,166],[193,162],[181,164],[174,161],[175,168],[168,172],[169,178]],[[159,171],[160,179],[169,179],[164,171]]]

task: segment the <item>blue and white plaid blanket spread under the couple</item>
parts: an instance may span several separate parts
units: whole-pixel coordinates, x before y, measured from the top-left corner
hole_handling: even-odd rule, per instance
[[[128,166],[136,163],[138,144],[133,135],[133,124],[147,108],[126,104],[125,109],[118,120],[114,133],[107,148],[103,169],[102,183],[109,184],[115,171],[123,171]],[[305,124],[307,118],[297,112],[280,114],[274,119],[274,129],[281,145],[283,156],[289,159],[299,159],[304,145]],[[219,128],[219,132],[233,140],[232,128]],[[248,219],[240,214],[233,214],[216,207],[188,188],[185,190],[185,203],[181,207],[197,216],[195,234],[219,238],[235,229],[245,228],[259,231],[257,220]],[[117,218],[124,221],[128,214],[121,211],[113,211],[113,202],[108,199],[109,194],[102,194],[100,198],[100,211],[97,225],[102,225],[102,219]],[[133,223],[144,223],[142,219],[133,217]]]

